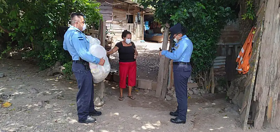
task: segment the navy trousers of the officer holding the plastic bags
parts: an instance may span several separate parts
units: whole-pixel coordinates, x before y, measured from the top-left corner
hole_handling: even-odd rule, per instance
[[[94,111],[94,89],[90,70],[86,70],[83,64],[72,63],[72,72],[78,83],[77,110],[79,120],[85,120],[89,113]]]

